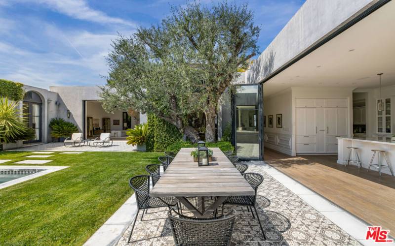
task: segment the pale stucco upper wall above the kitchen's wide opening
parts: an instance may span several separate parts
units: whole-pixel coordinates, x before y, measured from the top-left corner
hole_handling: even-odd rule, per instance
[[[237,83],[259,83],[377,1],[307,0]]]

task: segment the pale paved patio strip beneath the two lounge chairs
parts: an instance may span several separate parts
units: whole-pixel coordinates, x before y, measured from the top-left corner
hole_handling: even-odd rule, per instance
[[[127,145],[126,141],[114,141],[113,146],[106,146],[106,147],[93,147],[89,145],[85,146],[71,146],[71,147],[65,147],[63,143],[47,143],[47,144],[39,144],[39,145],[33,145],[33,146],[27,146],[27,147],[22,147],[19,149],[14,149],[11,151],[34,151],[34,152],[54,152],[54,151],[82,151],[82,152],[98,152],[98,151],[111,151],[111,152],[118,152],[118,151],[125,151],[125,152],[130,152],[130,151],[136,151],[136,146],[131,146]],[[42,153],[41,152],[41,153]],[[36,154],[36,153],[34,153]],[[48,153],[49,154],[49,153]]]

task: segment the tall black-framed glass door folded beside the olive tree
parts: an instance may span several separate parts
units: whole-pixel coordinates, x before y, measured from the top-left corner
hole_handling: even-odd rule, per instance
[[[243,160],[262,159],[261,85],[242,85],[233,96],[233,141]]]

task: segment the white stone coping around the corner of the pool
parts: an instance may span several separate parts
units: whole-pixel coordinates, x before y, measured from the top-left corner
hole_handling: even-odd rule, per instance
[[[14,179],[5,183],[0,184],[0,189],[14,185],[14,184],[19,184],[28,180],[35,179],[37,177],[43,176],[48,173],[53,173],[62,169],[68,168],[68,166],[0,166],[1,169],[44,169],[43,171],[40,171],[38,173],[30,174],[25,177],[21,177],[18,179]]]

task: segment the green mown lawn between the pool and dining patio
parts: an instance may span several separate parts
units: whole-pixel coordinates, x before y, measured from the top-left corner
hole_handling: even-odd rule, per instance
[[[0,159],[29,154],[0,152]],[[133,193],[128,179],[159,155],[54,154],[48,166],[70,167],[0,189],[0,245],[82,245]]]

